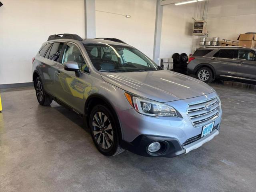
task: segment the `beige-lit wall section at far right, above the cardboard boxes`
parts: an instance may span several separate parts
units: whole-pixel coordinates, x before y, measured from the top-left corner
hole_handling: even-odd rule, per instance
[[[210,0],[206,21],[208,37],[237,40],[256,32],[256,0]]]

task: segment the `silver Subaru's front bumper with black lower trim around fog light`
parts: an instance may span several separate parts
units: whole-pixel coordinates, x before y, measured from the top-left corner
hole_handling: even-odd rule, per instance
[[[181,117],[177,118],[145,116],[134,109],[120,112],[118,116],[122,128],[122,148],[142,156],[174,157],[202,146],[219,133],[222,110],[220,108],[217,117],[208,120],[204,124],[193,126],[184,109],[187,108],[189,103],[214,96],[216,94],[213,92],[197,98],[168,102],[167,104],[180,113]],[[214,127],[216,126],[215,130],[208,136],[200,138],[203,126],[213,121]],[[195,137],[196,139],[190,142],[190,139]],[[161,154],[152,155],[147,150],[148,145],[155,141],[166,144],[166,150]]]

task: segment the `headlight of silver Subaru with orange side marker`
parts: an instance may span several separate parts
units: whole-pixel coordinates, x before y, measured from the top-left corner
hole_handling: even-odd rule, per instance
[[[178,117],[176,110],[166,104],[132,96],[124,92],[128,102],[139,113],[149,116]]]

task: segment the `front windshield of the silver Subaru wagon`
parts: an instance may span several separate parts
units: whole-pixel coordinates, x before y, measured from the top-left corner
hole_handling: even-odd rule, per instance
[[[162,70],[135,48],[110,44],[84,44],[94,67],[101,72]]]

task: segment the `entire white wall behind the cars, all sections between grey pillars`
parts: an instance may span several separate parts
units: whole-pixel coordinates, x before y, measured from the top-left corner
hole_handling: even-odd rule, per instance
[[[0,84],[31,82],[32,58],[50,34],[85,36],[84,0],[1,0]],[[163,8],[160,58],[190,54],[192,17],[201,19],[204,2]],[[96,0],[96,36],[120,38],[153,57],[156,0]],[[206,15],[209,38],[236,40],[256,32],[256,0],[210,0]]]

